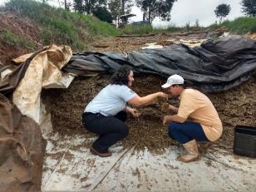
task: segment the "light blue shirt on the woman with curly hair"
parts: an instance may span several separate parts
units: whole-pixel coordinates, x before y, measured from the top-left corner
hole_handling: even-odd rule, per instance
[[[126,102],[137,94],[125,85],[108,85],[86,106],[85,112],[116,116],[126,109]]]

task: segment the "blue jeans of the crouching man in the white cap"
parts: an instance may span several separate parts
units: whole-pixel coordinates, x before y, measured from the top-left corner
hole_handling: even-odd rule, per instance
[[[170,138],[185,144],[190,140],[209,141],[199,123],[185,121],[184,123],[172,122],[169,127]]]

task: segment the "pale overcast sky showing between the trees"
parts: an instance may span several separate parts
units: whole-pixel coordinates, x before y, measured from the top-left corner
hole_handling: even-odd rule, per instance
[[[0,0],[0,4],[2,4],[2,2],[7,2],[7,0]],[[57,2],[57,0],[49,0],[49,2]],[[60,0],[60,2],[62,2],[62,0]],[[241,0],[178,0],[172,7],[170,22],[160,22],[160,20],[155,19],[153,25],[155,27],[166,27],[172,23],[175,24],[176,27],[184,27],[186,23],[190,22],[190,26],[193,26],[195,20],[198,19],[199,26],[207,27],[215,21],[219,21],[219,19],[215,17],[214,10],[222,3],[230,5],[231,11],[226,18],[234,20],[236,17],[243,16],[239,2],[241,2]],[[130,20],[142,20],[142,13],[138,7],[133,7],[132,13],[136,14],[136,17],[132,17]]]

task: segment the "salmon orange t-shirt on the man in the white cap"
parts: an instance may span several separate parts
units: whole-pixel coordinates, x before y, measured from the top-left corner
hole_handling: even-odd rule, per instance
[[[210,141],[218,140],[223,127],[219,115],[207,96],[200,91],[187,88],[180,94],[178,116],[199,123]]]

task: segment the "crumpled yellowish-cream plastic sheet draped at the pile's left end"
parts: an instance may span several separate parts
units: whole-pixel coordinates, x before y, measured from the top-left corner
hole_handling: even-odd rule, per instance
[[[32,59],[25,76],[13,92],[13,102],[23,115],[31,117],[37,123],[40,122],[42,87],[52,87],[62,80],[61,69],[69,62],[71,56],[71,47],[52,45]],[[27,57],[14,61],[23,62]]]

